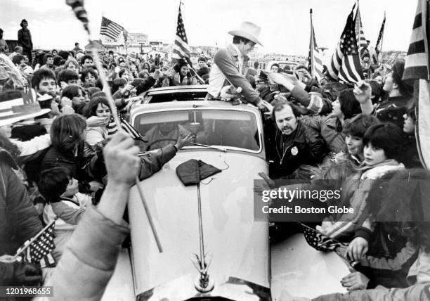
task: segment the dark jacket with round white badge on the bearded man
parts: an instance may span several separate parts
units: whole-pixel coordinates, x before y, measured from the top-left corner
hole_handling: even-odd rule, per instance
[[[300,120],[297,129],[289,136],[276,130],[275,148],[271,168],[274,179],[288,177],[300,165],[317,165],[327,155],[327,143],[320,133]]]

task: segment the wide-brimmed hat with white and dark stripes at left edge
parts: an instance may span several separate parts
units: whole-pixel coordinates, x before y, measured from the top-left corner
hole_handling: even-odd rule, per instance
[[[10,101],[0,101],[0,127],[13,124],[20,120],[25,120],[51,112],[51,109],[41,109],[39,102],[34,101],[35,95],[24,94],[25,98],[16,98]]]

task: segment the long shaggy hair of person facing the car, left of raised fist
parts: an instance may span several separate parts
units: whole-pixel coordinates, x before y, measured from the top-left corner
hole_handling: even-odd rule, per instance
[[[53,148],[59,153],[70,155],[82,142],[82,133],[86,129],[84,117],[77,114],[57,117],[51,126]]]

